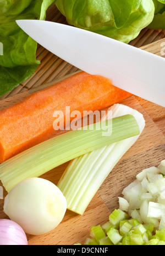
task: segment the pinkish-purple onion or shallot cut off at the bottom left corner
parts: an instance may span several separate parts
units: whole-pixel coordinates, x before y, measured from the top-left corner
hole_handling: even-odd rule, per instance
[[[1,219],[0,245],[28,245],[23,228],[14,221]]]

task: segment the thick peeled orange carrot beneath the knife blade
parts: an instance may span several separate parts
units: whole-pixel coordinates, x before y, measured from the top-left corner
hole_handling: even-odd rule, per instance
[[[0,111],[0,163],[50,138],[54,111],[97,111],[131,96],[108,79],[79,72]],[[65,123],[67,125],[67,123]]]

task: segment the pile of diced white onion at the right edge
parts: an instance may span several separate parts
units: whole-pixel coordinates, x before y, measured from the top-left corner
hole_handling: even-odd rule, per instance
[[[158,168],[152,166],[136,175],[136,180],[123,190],[128,202],[127,212],[139,222],[153,223],[156,229],[165,228],[165,160]],[[120,202],[122,200],[120,199]],[[123,207],[119,203],[119,208]],[[137,210],[139,209],[139,210]]]

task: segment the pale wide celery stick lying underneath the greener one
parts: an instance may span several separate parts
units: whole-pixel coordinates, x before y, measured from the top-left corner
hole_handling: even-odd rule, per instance
[[[141,113],[120,104],[113,105],[110,110],[112,118],[123,114],[133,115],[141,134],[145,127],[145,119]],[[68,210],[83,215],[103,181],[139,135],[109,144],[70,161],[57,185],[67,199]]]

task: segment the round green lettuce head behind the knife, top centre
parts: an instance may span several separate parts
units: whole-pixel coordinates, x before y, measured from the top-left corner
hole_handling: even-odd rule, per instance
[[[56,6],[75,27],[129,43],[154,17],[152,0],[57,0]]]

